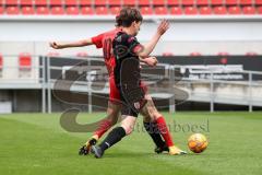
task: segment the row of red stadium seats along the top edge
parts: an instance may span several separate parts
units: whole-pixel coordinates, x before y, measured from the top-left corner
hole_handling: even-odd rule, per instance
[[[127,5],[145,15],[262,14],[262,0],[0,0],[0,14],[116,15]]]

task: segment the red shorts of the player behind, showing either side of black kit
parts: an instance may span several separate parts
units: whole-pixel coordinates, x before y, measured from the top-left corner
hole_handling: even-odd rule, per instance
[[[140,85],[144,92],[146,93],[147,92],[147,88],[146,85],[144,84],[144,82],[141,81],[141,85]],[[109,101],[112,102],[112,103],[120,103],[120,93],[119,93],[119,90],[117,89],[117,85],[115,83],[115,79],[112,75],[109,77]]]

